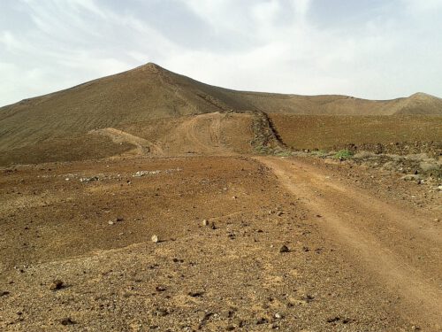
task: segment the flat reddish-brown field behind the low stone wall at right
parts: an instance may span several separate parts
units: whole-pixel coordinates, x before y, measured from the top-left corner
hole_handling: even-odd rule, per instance
[[[434,116],[317,116],[271,113],[284,143],[297,150],[390,143],[442,142],[442,118]]]

